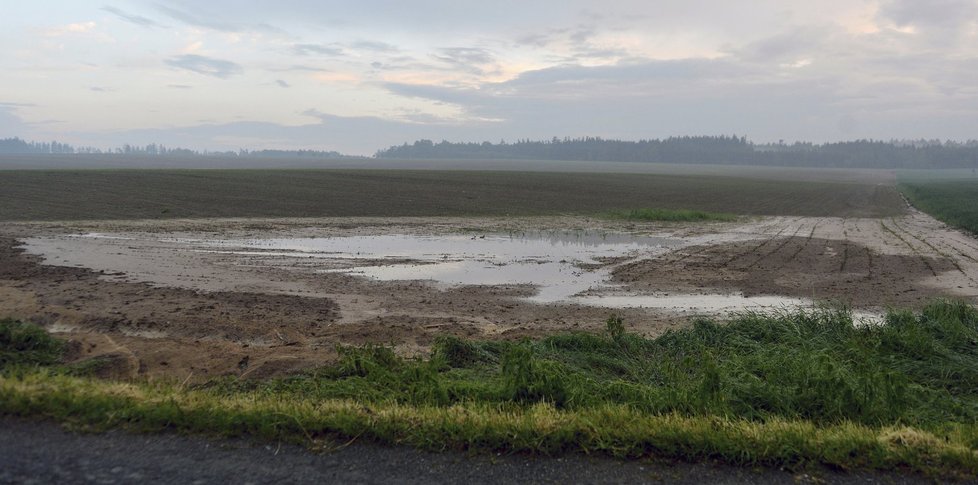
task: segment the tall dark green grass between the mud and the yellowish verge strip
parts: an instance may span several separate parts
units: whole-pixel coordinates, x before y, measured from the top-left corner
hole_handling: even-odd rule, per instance
[[[978,419],[978,311],[940,302],[854,325],[844,309],[708,320],[648,339],[607,335],[470,342],[442,337],[425,360],[343,348],[333,367],[271,382],[226,381],[316,399],[451,406],[625,404],[649,414],[937,426]]]

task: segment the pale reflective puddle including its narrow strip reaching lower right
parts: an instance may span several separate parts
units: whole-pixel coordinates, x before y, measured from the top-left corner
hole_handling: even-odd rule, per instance
[[[335,238],[194,241],[226,254],[348,260],[321,269],[380,281],[436,285],[532,285],[525,298],[607,308],[721,314],[810,306],[811,301],[741,294],[626,294],[610,283],[615,264],[655,257],[689,244],[678,238],[587,232],[508,235],[380,235]],[[407,262],[405,262],[407,261]],[[606,264],[614,261],[614,264]],[[366,262],[366,264],[363,264]]]

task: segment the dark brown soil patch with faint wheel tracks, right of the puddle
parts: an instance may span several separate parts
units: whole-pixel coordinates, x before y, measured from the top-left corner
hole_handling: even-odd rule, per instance
[[[833,257],[837,255],[845,260]],[[921,285],[922,280],[954,269],[953,262],[942,257],[874,254],[852,242],[788,236],[696,246],[623,265],[614,277],[646,292],[709,288],[745,296],[830,300],[856,308],[915,307],[946,294]]]

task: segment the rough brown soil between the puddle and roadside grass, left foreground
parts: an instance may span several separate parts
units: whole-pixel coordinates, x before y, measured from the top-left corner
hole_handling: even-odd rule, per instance
[[[241,292],[160,286],[118,281],[121,275],[105,271],[42,264],[19,244],[0,237],[0,315],[44,325],[77,342],[74,360],[111,357],[114,377],[269,377],[332,362],[337,344],[393,345],[399,353],[415,355],[438,335],[519,339],[559,330],[593,331],[610,313],[513,300],[530,293],[522,287],[432,291],[419,283],[381,285],[343,275],[313,284],[293,274],[300,283],[285,285],[288,291],[315,296],[271,293],[276,290],[267,287],[266,292]],[[275,277],[267,279],[274,284]],[[322,287],[345,292],[333,295],[343,301],[344,314],[334,298],[322,296]],[[646,321],[646,330],[656,333],[676,323],[647,321],[640,311],[624,313],[632,322]],[[131,373],[118,371],[119,354],[135,356],[138,365]]]

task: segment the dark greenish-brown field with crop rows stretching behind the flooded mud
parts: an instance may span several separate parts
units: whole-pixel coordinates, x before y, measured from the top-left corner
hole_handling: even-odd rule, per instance
[[[732,177],[659,169],[667,173],[0,171],[0,221],[597,215],[643,207],[845,217],[902,212],[890,172],[740,168],[742,175]]]

